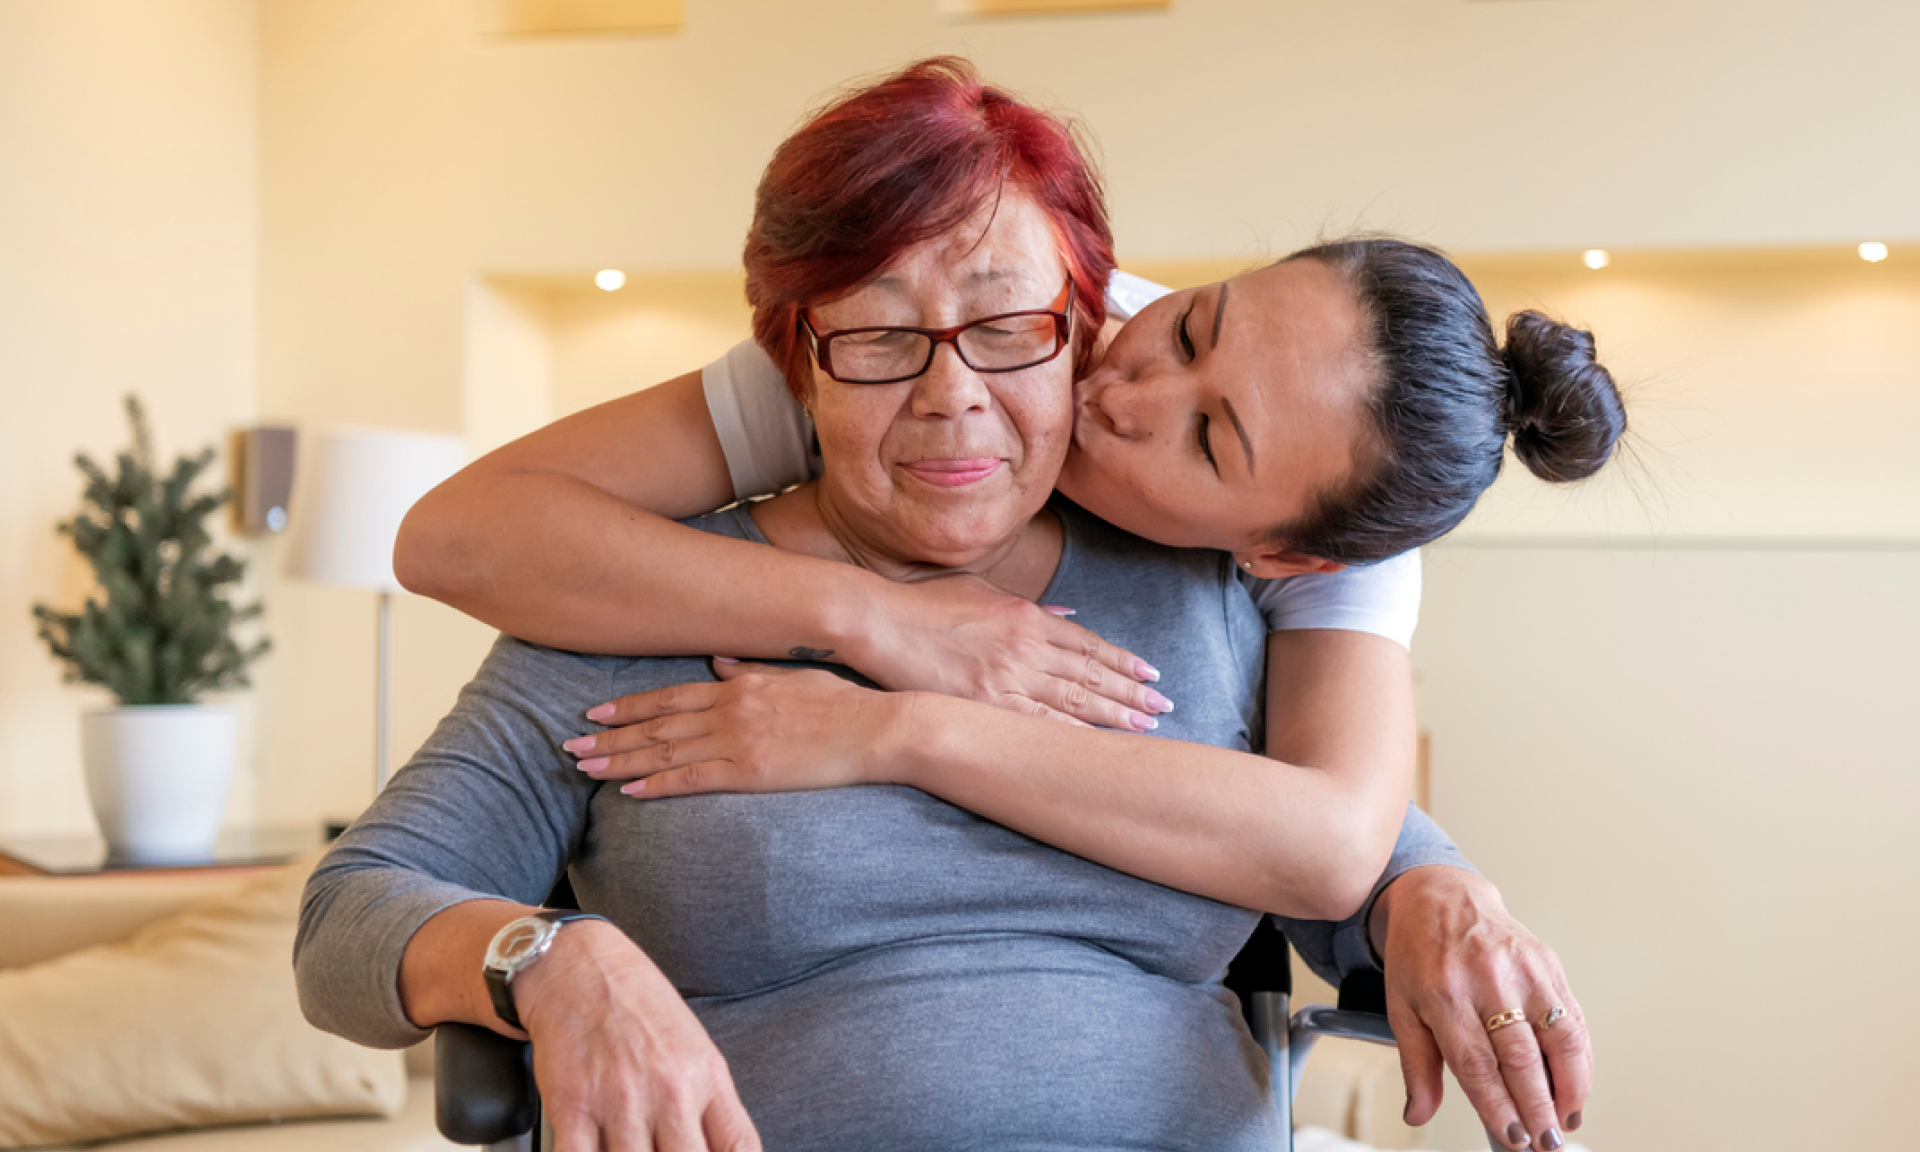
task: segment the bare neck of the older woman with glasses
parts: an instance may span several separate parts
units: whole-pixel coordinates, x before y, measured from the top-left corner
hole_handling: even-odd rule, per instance
[[[795,488],[785,495],[760,501],[749,509],[753,522],[768,543],[826,561],[854,564],[895,580],[914,584],[941,576],[970,574],[1023,599],[1037,599],[1060,566],[1060,522],[1041,509],[1008,540],[973,555],[943,557],[945,563],[908,559],[887,540],[831,499],[822,499],[820,482]]]

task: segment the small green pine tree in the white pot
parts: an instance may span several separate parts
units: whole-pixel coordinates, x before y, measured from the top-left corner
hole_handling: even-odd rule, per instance
[[[123,705],[190,705],[209,691],[246,687],[248,664],[267,651],[240,647],[234,628],[261,614],[238,607],[228,588],[246,561],[211,551],[207,518],[230,492],[190,492],[213,463],[207,447],[180,457],[173,474],[154,470],[154,442],[138,397],[127,397],[132,451],[108,476],[86,453],[81,511],[60,524],[94,568],[96,595],[77,614],[33,607],[40,639],[67,666],[69,684],[98,684]]]

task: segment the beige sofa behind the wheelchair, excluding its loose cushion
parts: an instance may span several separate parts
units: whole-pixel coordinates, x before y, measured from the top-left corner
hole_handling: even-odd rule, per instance
[[[182,908],[257,881],[248,872],[167,872],[102,877],[0,877],[0,972],[23,970],[96,943],[123,941]],[[1313,977],[1302,1002],[1331,996]],[[286,968],[292,995],[292,968]],[[94,1021],[98,1025],[98,1021]],[[301,1119],[275,1125],[202,1127],[115,1140],[127,1152],[442,1152],[434,1131],[432,1052],[407,1054],[405,1104],[392,1117]],[[1308,1066],[1294,1116],[1380,1148],[1409,1148],[1419,1133],[1400,1123],[1394,1052],[1327,1041]],[[4,1108],[4,1104],[0,1104]],[[6,1140],[0,1140],[4,1146]],[[83,1144],[42,1144],[79,1148]]]

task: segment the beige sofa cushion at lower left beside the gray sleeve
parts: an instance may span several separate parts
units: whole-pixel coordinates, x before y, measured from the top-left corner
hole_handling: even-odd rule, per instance
[[[0,972],[0,1146],[397,1112],[401,1056],[300,1014],[294,925],[317,858]]]

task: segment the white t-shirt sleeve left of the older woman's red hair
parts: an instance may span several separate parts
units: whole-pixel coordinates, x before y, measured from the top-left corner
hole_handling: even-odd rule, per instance
[[[733,476],[733,499],[774,495],[820,474],[820,442],[787,380],[753,340],[701,369],[707,413]]]

